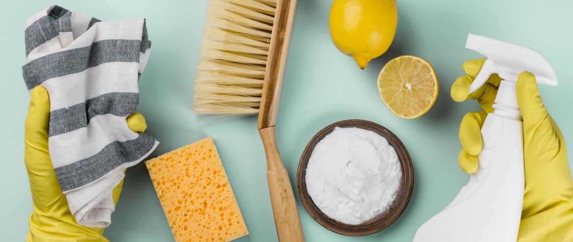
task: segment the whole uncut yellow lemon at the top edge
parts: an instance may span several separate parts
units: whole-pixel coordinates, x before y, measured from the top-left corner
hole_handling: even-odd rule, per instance
[[[398,6],[395,0],[334,0],[328,24],[336,48],[364,69],[392,44]]]

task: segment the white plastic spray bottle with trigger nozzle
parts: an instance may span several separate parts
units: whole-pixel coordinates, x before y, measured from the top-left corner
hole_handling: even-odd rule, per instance
[[[523,205],[523,122],[516,80],[523,71],[537,83],[555,86],[557,77],[543,55],[525,46],[469,34],[466,48],[488,57],[469,93],[493,73],[503,79],[494,112],[485,119],[479,167],[454,200],[418,229],[414,242],[516,241]]]

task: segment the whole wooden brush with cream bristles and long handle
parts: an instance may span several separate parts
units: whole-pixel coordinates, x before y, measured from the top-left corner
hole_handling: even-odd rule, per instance
[[[304,241],[274,127],[296,0],[210,0],[193,95],[195,114],[258,114],[280,241]]]

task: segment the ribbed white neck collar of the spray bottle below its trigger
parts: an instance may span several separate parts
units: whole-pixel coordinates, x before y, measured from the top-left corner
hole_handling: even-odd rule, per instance
[[[516,82],[512,80],[502,80],[497,90],[495,104],[492,106],[494,114],[505,118],[521,120],[521,111],[517,104]]]

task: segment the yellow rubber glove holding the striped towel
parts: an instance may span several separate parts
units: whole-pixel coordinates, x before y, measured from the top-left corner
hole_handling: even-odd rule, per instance
[[[30,93],[30,109],[25,125],[24,161],[34,208],[26,241],[108,241],[103,236],[103,228],[83,227],[76,223],[70,213],[48,153],[49,119],[48,91],[38,86]],[[143,115],[139,113],[129,116],[127,123],[135,132],[143,132],[147,127]],[[123,181],[113,189],[113,201],[116,203],[122,186]]]

